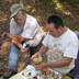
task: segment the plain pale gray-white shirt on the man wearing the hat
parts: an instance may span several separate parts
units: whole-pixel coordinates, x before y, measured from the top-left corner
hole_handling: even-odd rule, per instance
[[[30,44],[32,47],[37,46],[43,38],[43,33],[36,19],[29,14],[26,14],[23,25],[16,24],[12,18],[10,21],[10,33],[22,35],[22,37],[26,38],[25,44]]]

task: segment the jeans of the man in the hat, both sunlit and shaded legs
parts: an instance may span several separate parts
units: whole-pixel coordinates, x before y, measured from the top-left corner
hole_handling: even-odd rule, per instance
[[[42,46],[42,42],[36,47],[30,47],[31,56],[34,55],[36,52],[38,52],[41,46]],[[10,47],[9,69],[18,68],[19,50],[20,48],[12,43]],[[32,60],[31,60],[31,64],[32,64]]]

